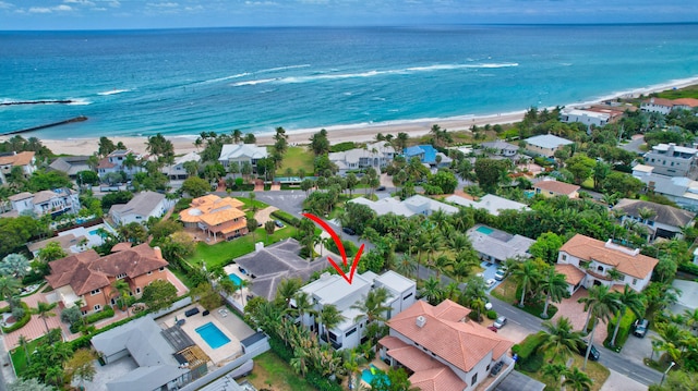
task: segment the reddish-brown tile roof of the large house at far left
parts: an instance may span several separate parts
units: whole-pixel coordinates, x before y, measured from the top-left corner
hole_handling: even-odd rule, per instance
[[[46,280],[55,289],[70,285],[75,294],[83,295],[109,285],[121,273],[133,279],[167,265],[159,248],[151,248],[147,243],[105,257],[89,249],[50,262],[51,274]]]

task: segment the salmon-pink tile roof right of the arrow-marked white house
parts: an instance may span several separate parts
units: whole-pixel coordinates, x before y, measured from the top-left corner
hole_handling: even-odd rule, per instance
[[[470,371],[488,354],[498,359],[514,342],[473,321],[459,321],[470,310],[446,300],[434,307],[419,301],[388,320],[392,331],[405,335],[457,368]],[[424,317],[423,327],[417,318]]]

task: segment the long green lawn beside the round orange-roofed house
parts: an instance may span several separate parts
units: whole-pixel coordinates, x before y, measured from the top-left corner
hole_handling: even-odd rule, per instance
[[[296,228],[286,225],[269,235],[268,244],[294,236],[296,232]],[[230,242],[220,242],[214,245],[198,242],[194,255],[186,260],[192,265],[200,265],[203,260],[210,270],[217,266],[226,266],[232,259],[252,253],[254,251],[254,242],[266,242],[266,232],[263,227],[255,231],[254,240],[252,234],[248,234]]]

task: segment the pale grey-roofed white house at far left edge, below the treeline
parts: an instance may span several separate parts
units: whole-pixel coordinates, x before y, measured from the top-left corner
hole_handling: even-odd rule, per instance
[[[12,195],[8,199],[16,215],[33,213],[36,217],[44,215],[57,217],[80,211],[79,194],[67,187],[34,194],[24,192]]]

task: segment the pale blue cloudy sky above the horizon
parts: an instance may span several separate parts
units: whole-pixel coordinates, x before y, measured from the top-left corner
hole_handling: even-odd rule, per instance
[[[698,22],[696,0],[0,0],[0,29]]]

